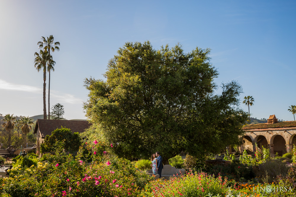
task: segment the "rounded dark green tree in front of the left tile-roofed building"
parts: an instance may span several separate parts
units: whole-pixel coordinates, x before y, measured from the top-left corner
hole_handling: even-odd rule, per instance
[[[69,152],[75,152],[81,145],[81,138],[78,132],[72,133],[69,128],[57,128],[52,131],[52,134],[45,136],[44,144],[41,144],[41,152],[52,152],[54,151],[54,144],[57,141],[64,141],[64,149]]]

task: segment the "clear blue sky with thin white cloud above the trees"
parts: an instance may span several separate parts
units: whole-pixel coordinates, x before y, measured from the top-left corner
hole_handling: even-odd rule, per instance
[[[156,49],[211,48],[215,82],[237,80],[241,100],[255,99],[252,117],[292,121],[295,9],[295,1],[0,1],[0,113],[43,114],[34,53],[41,36],[53,35],[61,45],[52,54],[50,103],[64,105],[67,119],[85,119],[84,78],[103,79],[125,42],[150,40]]]

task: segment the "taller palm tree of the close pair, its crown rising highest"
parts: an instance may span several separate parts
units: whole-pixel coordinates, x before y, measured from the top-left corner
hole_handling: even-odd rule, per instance
[[[48,51],[48,54],[50,55],[50,50],[52,52],[54,52],[55,50],[59,51],[59,42],[55,42],[54,43],[54,37],[52,35],[50,35],[49,37],[44,38],[43,36],[41,37],[42,42],[38,42],[37,45],[38,48],[43,48],[44,50]],[[47,71],[49,72],[49,81],[48,81],[48,119],[50,119],[50,114],[49,114],[49,91],[50,91],[50,70],[54,71],[54,64],[52,64],[52,62],[54,62],[51,59],[49,59],[48,65],[51,65],[47,68]],[[55,62],[54,62],[55,63]]]

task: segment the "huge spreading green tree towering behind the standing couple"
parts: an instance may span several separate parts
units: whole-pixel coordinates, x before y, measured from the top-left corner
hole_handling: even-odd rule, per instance
[[[238,141],[247,113],[237,82],[213,82],[218,72],[210,49],[184,53],[181,45],[160,50],[149,42],[126,43],[109,61],[106,80],[85,79],[86,115],[123,157],[159,151],[164,162],[181,151],[199,156]]]

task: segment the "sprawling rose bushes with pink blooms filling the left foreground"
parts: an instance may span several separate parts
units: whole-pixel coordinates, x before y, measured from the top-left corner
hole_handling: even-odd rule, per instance
[[[44,157],[49,163],[39,162],[12,171],[11,178],[0,178],[0,196],[140,196],[152,178],[136,171],[132,162],[109,151],[104,154],[108,147],[95,140],[81,146],[76,157],[57,150]]]

